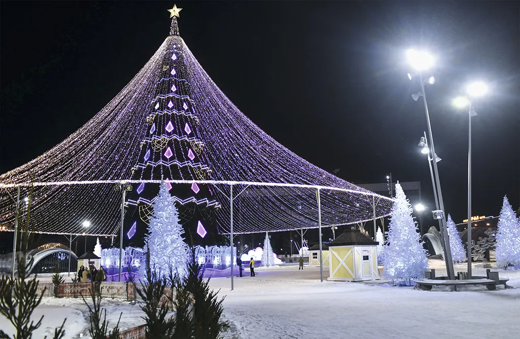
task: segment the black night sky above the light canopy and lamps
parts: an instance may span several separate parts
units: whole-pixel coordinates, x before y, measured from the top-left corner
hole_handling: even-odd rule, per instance
[[[173,2],[1,3],[1,164],[55,146],[102,109],[159,48]],[[180,35],[239,109],[278,142],[353,183],[420,181],[426,129],[406,50],[434,53],[426,87],[446,212],[466,219],[470,80],[473,215],[520,204],[518,2],[177,2]],[[426,74],[425,74],[426,75]],[[137,146],[137,145],[136,145]],[[416,201],[412,201],[414,203]],[[433,222],[433,221],[432,221]],[[276,246],[275,246],[276,247]]]

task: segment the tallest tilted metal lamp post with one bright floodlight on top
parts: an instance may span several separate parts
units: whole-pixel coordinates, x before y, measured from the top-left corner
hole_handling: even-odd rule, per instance
[[[428,113],[428,105],[426,103],[426,92],[424,91],[424,80],[423,80],[423,74],[422,71],[427,70],[430,68],[430,66],[433,64],[433,57],[429,55],[428,53],[424,51],[416,51],[416,50],[409,50],[408,51],[408,59],[410,61],[410,64],[412,67],[417,71],[417,75],[419,75],[420,83],[421,83],[421,92],[417,94],[412,95],[412,99],[417,101],[419,99],[419,96],[423,98],[424,102],[424,111],[426,113],[426,124],[428,126],[428,137],[430,138],[431,143],[431,151],[433,155],[433,169],[435,173],[435,182],[437,186],[437,193],[439,198],[439,207],[440,212],[437,213],[439,220],[441,220],[441,233],[444,233],[444,257],[446,261],[446,270],[448,273],[448,278],[451,280],[455,279],[455,273],[453,270],[453,261],[451,259],[451,250],[450,250],[450,243],[449,243],[449,235],[446,225],[446,218],[444,215],[444,201],[443,201],[443,194],[440,189],[440,181],[439,181],[439,171],[437,168],[437,162],[435,161],[435,146],[433,143],[433,134],[432,134],[432,125],[430,123],[430,114]],[[408,73],[408,78],[411,80],[413,78],[413,75]],[[435,79],[433,76],[427,79],[427,83],[430,85],[433,85],[435,82]]]

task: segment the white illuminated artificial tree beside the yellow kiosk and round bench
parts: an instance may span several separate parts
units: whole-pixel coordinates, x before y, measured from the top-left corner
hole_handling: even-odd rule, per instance
[[[422,278],[428,268],[428,259],[412,217],[413,209],[399,183],[395,185],[395,193],[388,246],[383,256],[384,276],[392,280]]]

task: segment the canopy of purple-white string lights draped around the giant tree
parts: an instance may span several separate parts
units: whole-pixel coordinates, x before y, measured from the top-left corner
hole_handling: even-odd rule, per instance
[[[172,77],[165,80],[161,75],[170,66],[165,60],[171,60],[174,51],[182,56],[176,60],[176,67],[181,67],[178,73],[184,78],[176,78],[172,71]],[[375,195],[310,164],[240,112],[178,35],[174,17],[171,35],[99,113],[48,152],[0,175],[0,225],[14,229],[18,184],[23,184],[23,220],[23,198],[28,195],[28,183],[35,182],[31,214],[36,232],[118,234],[121,193],[113,190],[114,183],[128,181],[136,189],[139,182],[160,182],[133,181],[133,169],[142,163],[140,144],[149,133],[147,117],[164,114],[155,112],[154,102],[157,86],[164,81],[189,85],[191,95],[183,100],[189,100],[193,112],[174,114],[194,114],[200,120],[190,128],[203,141],[204,166],[211,169],[209,180],[172,180],[171,184],[210,184],[222,206],[215,211],[220,233],[230,231],[229,185],[236,185],[236,192],[243,191],[233,200],[236,234],[318,227],[317,189],[323,227],[372,220],[373,204],[376,218],[389,214],[391,198]],[[172,90],[164,99],[176,96]],[[165,128],[168,130],[168,126]],[[174,160],[163,158],[161,166],[184,166]],[[82,226],[85,220],[90,222],[88,228]]]

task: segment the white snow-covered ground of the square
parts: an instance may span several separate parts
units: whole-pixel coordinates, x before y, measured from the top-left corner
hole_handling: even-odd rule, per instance
[[[431,260],[442,274],[444,262]],[[456,265],[465,271],[466,265]],[[435,338],[499,337],[520,333],[520,271],[501,271],[509,278],[504,290],[460,288],[458,292],[434,288],[393,287],[391,283],[319,281],[319,267],[256,268],[256,277],[211,279],[211,287],[225,296],[224,316],[231,322],[226,339],[245,338]],[[244,273],[247,273],[245,270]],[[482,264],[474,275],[485,276]],[[116,299],[103,300],[107,318],[120,328],[144,323],[139,305]],[[35,337],[49,335],[67,317],[66,338],[88,338],[86,306],[81,299],[46,298],[36,317],[44,315]],[[0,328],[9,331],[0,318]]]

